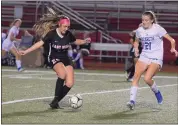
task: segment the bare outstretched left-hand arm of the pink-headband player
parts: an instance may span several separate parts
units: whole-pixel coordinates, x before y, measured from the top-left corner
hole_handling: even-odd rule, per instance
[[[42,47],[44,44],[44,42],[42,40],[40,40],[39,42],[35,43],[33,46],[31,46],[30,48],[26,49],[25,51],[19,51],[19,53],[21,55],[26,55],[27,53],[30,53],[34,50],[37,50],[38,48]]]

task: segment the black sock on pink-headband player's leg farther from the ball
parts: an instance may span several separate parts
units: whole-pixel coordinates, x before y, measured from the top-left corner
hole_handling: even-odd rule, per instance
[[[58,78],[56,81],[55,97],[59,97],[63,93],[64,79]]]

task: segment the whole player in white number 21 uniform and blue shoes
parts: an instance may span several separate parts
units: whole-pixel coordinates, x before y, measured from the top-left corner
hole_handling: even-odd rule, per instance
[[[169,36],[162,26],[157,24],[156,16],[152,11],[143,13],[142,24],[143,26],[136,30],[136,39],[134,42],[135,56],[139,56],[139,41],[142,43],[143,49],[136,63],[134,79],[130,89],[130,101],[127,103],[130,110],[133,110],[135,107],[138,82],[144,72],[144,81],[154,92],[158,104],[162,104],[163,102],[161,92],[153,80],[153,76],[159,71],[163,64],[163,37],[170,41],[171,53],[178,56],[178,52],[175,49],[175,40]]]

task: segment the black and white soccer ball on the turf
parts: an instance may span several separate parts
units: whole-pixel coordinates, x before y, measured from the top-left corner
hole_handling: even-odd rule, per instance
[[[78,109],[83,104],[83,99],[80,94],[73,95],[69,98],[69,104],[72,108]]]

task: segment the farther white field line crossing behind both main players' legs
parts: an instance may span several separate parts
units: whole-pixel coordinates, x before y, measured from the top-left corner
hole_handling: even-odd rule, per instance
[[[10,70],[10,69],[2,69],[2,71],[9,71],[9,72],[17,72],[16,70]],[[39,70],[25,70],[24,72],[27,73],[52,73],[55,74],[53,71],[39,71]],[[75,72],[76,75],[89,75],[89,76],[119,76],[119,77],[125,77],[125,74],[108,74],[108,73],[87,73],[87,72]],[[2,75],[3,76],[3,75]],[[143,77],[143,76],[142,76]],[[178,79],[178,76],[154,76],[154,78],[166,78],[166,79]]]

